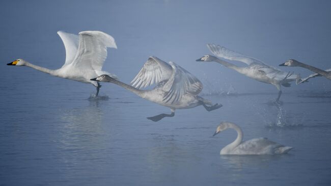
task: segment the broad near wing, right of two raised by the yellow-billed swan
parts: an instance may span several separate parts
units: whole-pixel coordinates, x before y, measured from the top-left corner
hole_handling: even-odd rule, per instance
[[[73,65],[79,68],[101,70],[107,57],[107,47],[117,48],[115,39],[100,31],[79,33],[79,45]]]

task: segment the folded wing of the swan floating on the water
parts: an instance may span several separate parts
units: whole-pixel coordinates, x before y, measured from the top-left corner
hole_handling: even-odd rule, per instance
[[[279,147],[283,145],[267,138],[256,138],[242,142],[235,151],[241,154],[273,154]]]

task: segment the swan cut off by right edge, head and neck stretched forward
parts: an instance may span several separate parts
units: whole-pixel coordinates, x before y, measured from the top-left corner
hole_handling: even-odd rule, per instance
[[[288,60],[285,63],[280,64],[279,66],[302,67],[302,68],[306,68],[308,70],[311,70],[311,71],[315,72],[315,73],[309,75],[308,77],[302,79],[302,81],[300,81],[299,83],[304,83],[309,78],[316,77],[316,76],[324,76],[325,78],[331,80],[331,68],[327,69],[327,70],[321,70],[319,68],[307,65],[305,63],[298,62],[298,61],[293,60],[293,59]]]

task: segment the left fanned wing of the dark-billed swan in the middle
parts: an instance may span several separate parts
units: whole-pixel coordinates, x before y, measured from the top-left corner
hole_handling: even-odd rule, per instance
[[[168,63],[154,56],[149,57],[143,68],[132,79],[131,85],[140,89],[157,84],[163,80],[169,79],[172,71],[173,69]]]

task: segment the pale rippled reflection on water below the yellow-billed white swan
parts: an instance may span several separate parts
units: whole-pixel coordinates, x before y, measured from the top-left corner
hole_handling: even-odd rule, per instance
[[[102,128],[103,111],[99,101],[89,101],[87,107],[61,110],[64,124],[59,128],[58,148],[62,152],[60,161],[72,167],[82,160],[96,161],[102,149],[104,129]],[[79,160],[80,158],[80,160]]]

